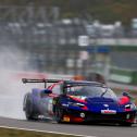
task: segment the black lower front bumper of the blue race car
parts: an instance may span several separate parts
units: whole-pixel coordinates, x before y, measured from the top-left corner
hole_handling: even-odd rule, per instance
[[[72,110],[67,109],[64,110],[65,115],[68,115],[70,117],[79,117],[83,121],[82,122],[92,122],[92,121],[98,121],[98,122],[128,122],[128,123],[134,123],[135,117],[136,117],[136,111],[129,111],[129,112],[119,112],[116,114],[101,114],[101,113],[95,113],[90,111],[77,111],[77,110]],[[82,114],[85,116],[82,117]]]

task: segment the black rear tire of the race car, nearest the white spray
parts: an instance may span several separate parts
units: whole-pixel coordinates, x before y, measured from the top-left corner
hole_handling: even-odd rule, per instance
[[[30,94],[27,94],[24,98],[24,111],[25,111],[26,119],[28,121],[35,120],[34,109],[33,109],[33,100],[30,98]]]

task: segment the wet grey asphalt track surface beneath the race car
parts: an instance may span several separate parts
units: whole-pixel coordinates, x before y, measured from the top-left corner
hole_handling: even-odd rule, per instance
[[[49,130],[66,134],[84,135],[88,137],[137,137],[137,125],[124,127],[119,125],[78,125],[78,124],[57,124],[51,122],[28,122],[26,120],[14,120],[0,117],[0,126],[28,128],[36,130]]]

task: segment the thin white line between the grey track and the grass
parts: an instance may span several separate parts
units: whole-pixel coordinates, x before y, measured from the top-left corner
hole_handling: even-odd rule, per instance
[[[27,130],[27,132],[38,132],[38,133],[48,133],[48,134],[70,135],[70,136],[76,136],[76,137],[97,137],[97,136],[76,135],[76,134],[58,133],[58,132],[49,132],[49,130],[39,130],[39,129],[29,129],[29,128],[18,128],[18,127],[11,127],[11,126],[0,126],[0,127],[1,128],[9,128],[9,129]]]

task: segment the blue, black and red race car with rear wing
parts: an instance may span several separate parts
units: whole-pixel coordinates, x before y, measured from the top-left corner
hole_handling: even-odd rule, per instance
[[[58,123],[116,123],[132,126],[136,105],[128,94],[117,97],[107,85],[87,80],[27,79],[43,83],[24,97],[23,110],[27,120],[51,119]]]

